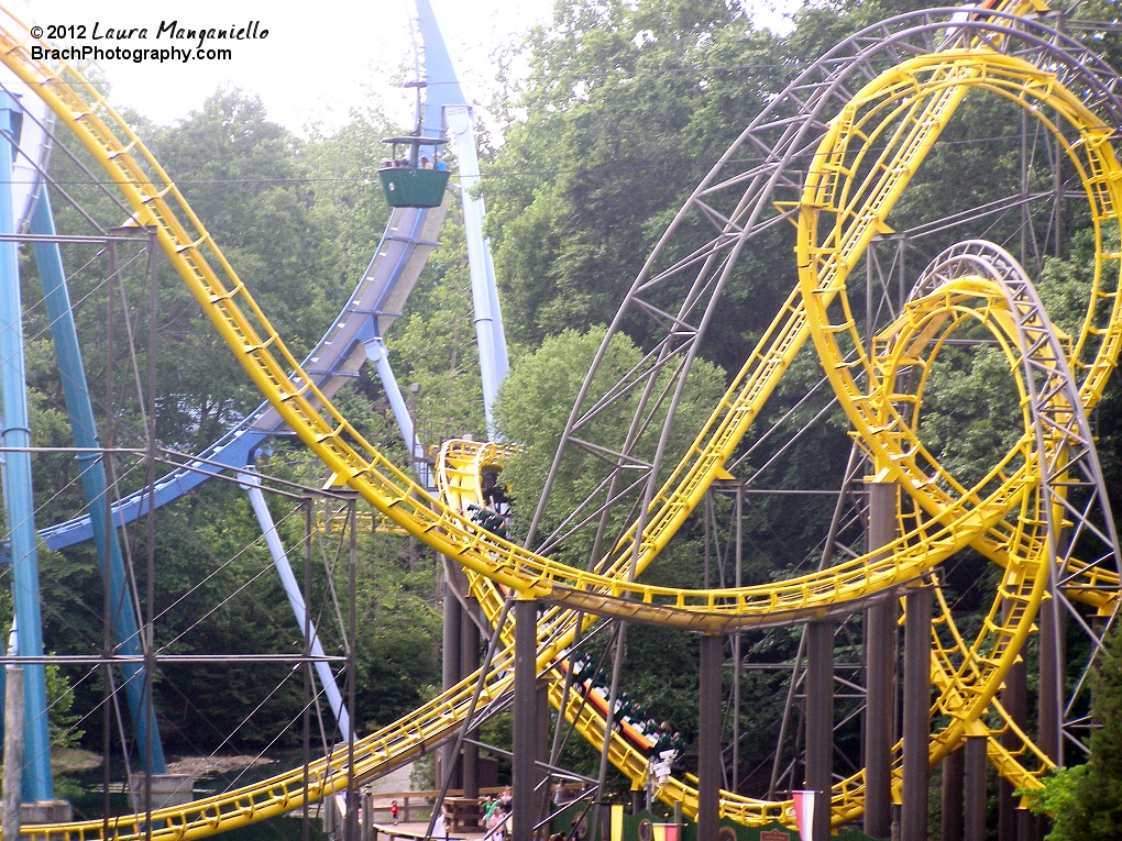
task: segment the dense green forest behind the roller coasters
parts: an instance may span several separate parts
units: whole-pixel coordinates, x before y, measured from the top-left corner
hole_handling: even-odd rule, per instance
[[[926,4],[817,0],[794,15],[790,33],[776,35],[757,28],[744,6],[733,0],[576,0],[558,2],[549,25],[505,47],[507,55],[499,65],[508,66],[511,56],[517,55],[530,72],[525,78],[506,80],[500,93],[486,103],[493,117],[486,126],[481,191],[513,363],[499,398],[498,423],[507,440],[524,444],[504,474],[514,498],[515,536],[524,534],[519,528],[533,511],[605,325],[700,178],[760,110],[825,50],[873,21]],[[1100,19],[1111,6],[1085,3],[1076,15]],[[1116,36],[1086,37],[1097,39],[1096,48],[1109,59],[1122,55]],[[967,117],[948,128],[951,151],[932,156],[911,197],[901,203],[901,220],[934,215],[964,195],[984,203],[987,191],[997,190],[993,184],[1020,177],[1012,158],[992,156],[981,147],[982,139],[999,145],[1010,140],[1019,124],[1002,137],[1006,127],[992,112],[971,108],[967,102]],[[301,138],[272,122],[257,99],[238,90],[215,92],[200,110],[172,126],[153,124],[142,114],[128,119],[297,357],[306,353],[377,247],[388,219],[376,175],[384,155],[378,141],[402,133],[403,127],[392,124],[381,103],[371,101],[357,105],[346,127],[313,130]],[[122,223],[127,213],[91,175],[81,150],[71,149],[65,139],[62,147],[52,160],[59,230],[96,233]],[[938,186],[947,183],[948,173],[958,185],[953,195]],[[425,445],[449,435],[485,435],[467,251],[458,214],[453,202],[439,247],[387,336],[398,380],[410,385],[411,408]],[[1089,243],[1080,239],[1078,225],[1079,220],[1069,220],[1072,247],[1064,259],[1032,267],[1045,278],[1042,294],[1060,311],[1065,296],[1086,284],[1080,258]],[[1000,233],[999,225],[994,235]],[[744,283],[726,293],[684,396],[682,417],[695,426],[708,417],[793,284],[793,259],[784,235],[775,235],[774,247],[746,255]],[[916,268],[938,250],[926,248],[931,253],[921,250],[909,258]],[[137,396],[137,385],[154,354],[155,394],[148,397],[156,407],[159,444],[182,453],[202,451],[260,397],[166,268],[157,270],[156,332],[150,332],[144,260],[127,246],[121,249],[118,294],[127,297],[117,302],[112,317],[107,316],[111,305],[107,289],[112,285],[105,281],[104,256],[93,246],[67,246],[65,252],[95,410],[110,419],[101,431],[103,443],[142,449],[145,400]],[[39,301],[29,258],[25,276],[25,302]],[[112,344],[110,327],[116,334]],[[62,387],[42,307],[26,304],[25,331],[34,444],[68,446]],[[603,370],[622,376],[635,366],[651,339],[646,331],[643,322],[627,323]],[[102,385],[110,371],[116,371],[116,390]],[[992,452],[1008,446],[1010,435],[1019,434],[1006,423],[1017,413],[1010,410],[1015,395],[1002,383],[1004,372],[1000,359],[981,353],[971,360],[951,354],[934,375],[925,435],[956,472],[971,475],[988,463]],[[808,349],[779,395],[782,410],[795,406],[785,423],[801,433],[778,464],[769,464],[771,488],[837,489],[850,449],[844,417],[837,409],[822,409],[822,401],[797,405],[819,379],[817,359]],[[407,463],[386,397],[369,369],[337,403],[369,441]],[[811,424],[819,409],[821,423]],[[1112,490],[1122,483],[1120,419],[1114,389],[1096,416],[1101,459]],[[598,434],[610,441],[624,431],[605,422]],[[118,461],[122,490],[137,487],[141,461],[130,454]],[[765,461],[760,455],[751,463],[760,469]],[[318,462],[284,438],[270,445],[258,466],[293,487],[320,487],[328,479]],[[35,471],[40,523],[58,521],[81,509],[70,455],[39,454]],[[585,490],[579,470],[565,481],[552,497],[558,511]],[[729,505],[727,499],[714,502],[714,528],[727,523]],[[305,521],[298,500],[276,495],[270,507],[286,542],[300,545]],[[744,580],[774,580],[817,563],[829,509],[822,497],[753,497],[743,523]],[[331,514],[327,507],[319,512]],[[155,612],[162,650],[298,651],[300,629],[236,482],[202,486],[162,511],[157,523],[156,603],[141,604],[141,612]],[[703,523],[683,529],[651,571],[651,580],[696,586],[720,577],[729,583],[724,561],[714,558],[710,569],[706,534]],[[148,584],[144,524],[127,537],[142,593]],[[340,539],[323,530],[314,540],[313,603],[320,606],[315,620],[333,654],[343,650],[348,602]],[[576,557],[583,551],[568,546],[559,554],[567,557],[571,552]],[[358,556],[355,717],[365,731],[407,713],[439,690],[442,591],[441,564],[404,536],[367,528]],[[99,650],[102,589],[93,548],[44,549],[40,564],[48,647],[58,653]],[[982,603],[986,580],[993,575],[992,570],[978,573],[980,564],[977,556],[968,557],[949,572],[948,590],[964,617]],[[798,648],[798,631],[745,635],[743,646],[753,662],[789,663]],[[693,637],[642,627],[628,631],[623,676],[628,692],[654,718],[678,723],[687,740],[696,731],[697,660]],[[747,672],[744,681],[743,692],[751,700],[738,713],[739,777],[760,793],[771,773],[769,751],[782,713],[784,676],[782,669],[763,668]],[[100,751],[102,672],[67,666],[54,685],[59,696],[54,715],[58,740]],[[292,748],[300,739],[302,693],[288,665],[200,665],[186,659],[166,664],[156,681],[166,748],[175,755]],[[502,722],[491,737],[505,738]],[[595,767],[595,759],[577,746],[570,760]]]

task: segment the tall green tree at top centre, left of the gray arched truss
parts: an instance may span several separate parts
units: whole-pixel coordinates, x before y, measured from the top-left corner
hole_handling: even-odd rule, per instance
[[[534,346],[610,321],[673,212],[793,67],[738,4],[682,0],[559,3],[527,52],[486,186],[508,333]],[[636,341],[647,329],[628,325]]]

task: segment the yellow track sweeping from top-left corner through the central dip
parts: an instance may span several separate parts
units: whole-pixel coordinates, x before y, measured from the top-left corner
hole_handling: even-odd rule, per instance
[[[978,527],[993,525],[1022,490],[1019,486],[1023,483],[1011,481],[988,500],[991,505],[966,510],[964,499],[959,506],[948,507],[938,518],[944,528],[928,532],[922,552],[914,551],[913,536],[907,536],[900,539],[898,553],[880,562],[861,558],[828,573],[737,591],[654,588],[615,577],[610,567],[606,574],[591,574],[482,533],[458,512],[436,506],[435,500],[364,441],[331,406],[303,375],[211,234],[140,140],[92,86],[76,75],[73,81],[63,80],[61,74],[73,71],[64,67],[55,72],[30,58],[28,40],[26,34],[19,38],[11,31],[3,33],[0,44],[4,62],[44,98],[59,121],[107,169],[132,205],[134,222],[156,229],[160,248],[200,306],[293,431],[340,480],[350,483],[389,519],[433,548],[526,598],[606,616],[619,614],[633,621],[712,631],[820,616],[839,602],[914,579],[964,545],[966,538],[956,535],[969,535]],[[789,361],[801,345],[803,331],[784,330],[785,326],[780,325],[773,351],[765,357],[765,376],[753,378],[764,383],[764,388],[753,389],[751,404],[741,404],[735,414],[747,410],[754,415],[758,410],[781,372],[774,361]],[[696,507],[703,491],[700,484],[686,481],[664,505],[660,500],[660,516],[652,518],[641,542],[641,567],[665,546]],[[629,554],[629,547],[622,547],[616,563],[625,563]]]

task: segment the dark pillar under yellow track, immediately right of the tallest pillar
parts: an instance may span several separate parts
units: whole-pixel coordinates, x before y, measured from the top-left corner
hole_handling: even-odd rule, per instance
[[[931,731],[930,586],[908,593],[904,608],[903,784],[901,841],[927,841],[927,746]]]

